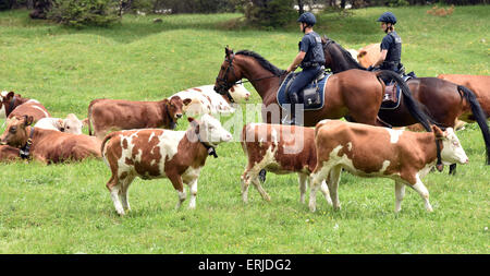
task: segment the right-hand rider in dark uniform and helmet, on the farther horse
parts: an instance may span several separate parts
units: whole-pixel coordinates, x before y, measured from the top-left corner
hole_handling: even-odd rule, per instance
[[[379,16],[378,22],[381,22],[381,28],[387,35],[381,41],[381,55],[378,61],[369,67],[368,70],[391,70],[396,73],[403,73],[402,58],[402,38],[394,31],[396,17],[391,12],[384,12]]]

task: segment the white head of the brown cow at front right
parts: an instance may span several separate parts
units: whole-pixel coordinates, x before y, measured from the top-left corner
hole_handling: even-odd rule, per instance
[[[467,164],[469,161],[465,149],[461,146],[460,140],[452,128],[448,128],[443,132],[441,129],[433,125],[432,131],[436,135],[436,140],[442,141],[441,159],[444,165],[455,163]]]

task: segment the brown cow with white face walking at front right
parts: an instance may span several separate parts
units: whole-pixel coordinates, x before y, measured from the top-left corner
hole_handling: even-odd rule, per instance
[[[411,132],[387,128],[323,120],[317,123],[315,144],[318,164],[311,175],[309,201],[311,212],[316,209],[316,191],[319,183],[329,177],[330,196],[333,207],[339,208],[338,188],[342,169],[359,177],[391,178],[395,181],[395,212],[400,212],[405,185],[417,191],[432,212],[429,191],[421,182],[437,163],[437,144],[444,165],[466,164],[468,157],[453,129],[442,132]]]

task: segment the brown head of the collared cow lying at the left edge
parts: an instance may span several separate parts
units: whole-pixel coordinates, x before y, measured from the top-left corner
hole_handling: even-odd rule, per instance
[[[34,121],[32,116],[15,116],[7,120],[7,128],[3,134],[0,136],[0,144],[11,145],[14,147],[23,147],[29,134],[27,133],[27,127]]]

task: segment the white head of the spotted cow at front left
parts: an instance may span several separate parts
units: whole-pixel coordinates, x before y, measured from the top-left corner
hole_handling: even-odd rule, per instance
[[[228,132],[218,121],[210,115],[204,115],[199,121],[189,117],[191,127],[198,133],[201,142],[216,146],[221,142],[230,142],[232,134]]]

